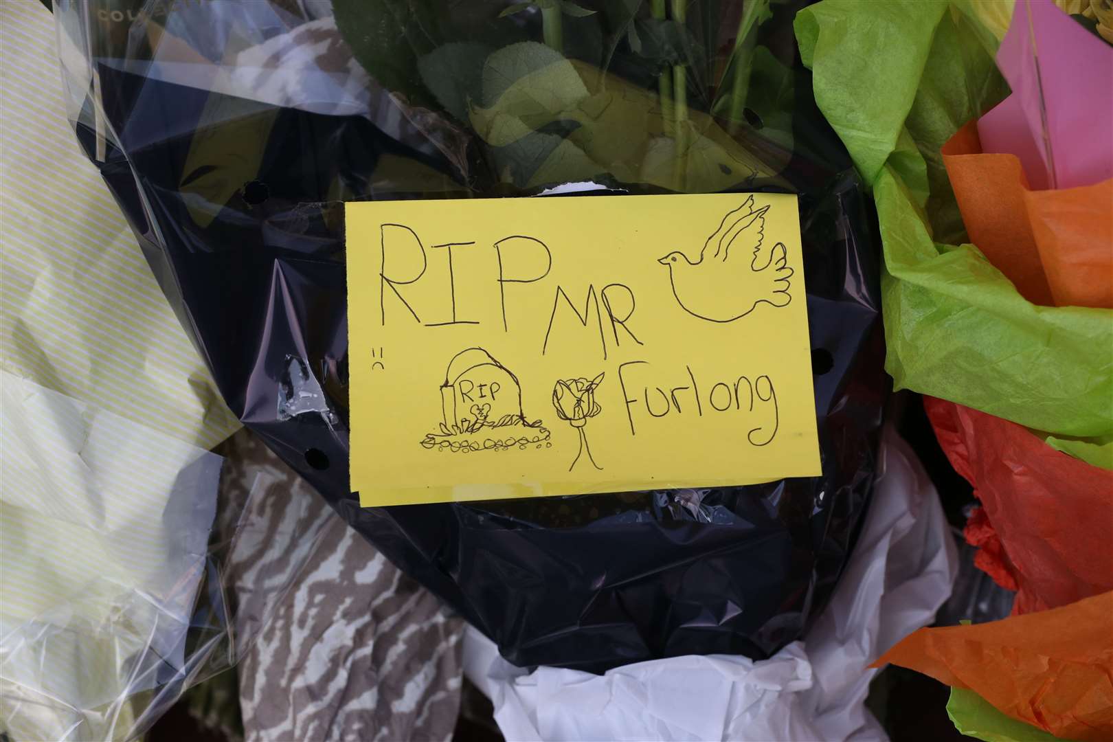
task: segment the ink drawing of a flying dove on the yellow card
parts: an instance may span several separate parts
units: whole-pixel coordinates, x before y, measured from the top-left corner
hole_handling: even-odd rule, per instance
[[[768,206],[754,208],[754,197],[722,218],[699,259],[692,263],[681,251],[658,260],[668,266],[672,294],[690,315],[728,323],[745,317],[761,301],[782,307],[792,269],[784,243],[762,248]]]

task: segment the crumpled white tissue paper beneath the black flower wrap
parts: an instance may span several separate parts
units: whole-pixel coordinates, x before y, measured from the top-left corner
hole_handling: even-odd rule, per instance
[[[471,629],[464,672],[508,740],[878,740],[867,664],[930,623],[957,557],[919,462],[886,431],[874,504],[846,574],[802,642],[768,660],[681,656],[591,675],[532,672]]]

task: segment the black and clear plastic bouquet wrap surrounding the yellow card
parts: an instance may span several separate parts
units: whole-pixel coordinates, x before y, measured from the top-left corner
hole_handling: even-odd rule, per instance
[[[56,16],[78,50],[77,136],[232,410],[508,660],[599,672],[798,639],[869,499],[879,257],[800,65],[802,4],[59,0]],[[361,508],[343,201],[583,181],[799,195],[823,476]]]

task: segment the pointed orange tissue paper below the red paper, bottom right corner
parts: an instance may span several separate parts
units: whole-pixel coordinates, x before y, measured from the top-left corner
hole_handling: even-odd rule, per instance
[[[1113,738],[1113,592],[966,626],[920,629],[878,662],[977,692],[1056,736]]]

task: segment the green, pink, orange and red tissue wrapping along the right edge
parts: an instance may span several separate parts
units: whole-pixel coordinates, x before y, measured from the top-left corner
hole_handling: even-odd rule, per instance
[[[826,0],[796,22],[873,182],[887,368],[934,397],[982,503],[976,563],[1017,591],[1013,616],[881,661],[953,685],[956,724],[986,740],[1113,735],[1113,113],[1091,95],[1113,86],[1109,20],[1101,1]],[[893,63],[848,65],[861,48]]]

